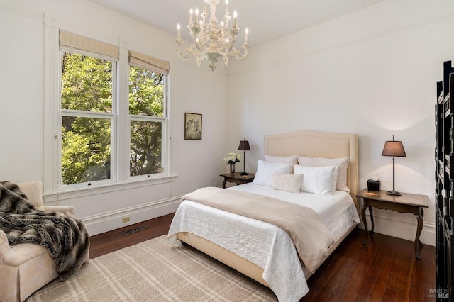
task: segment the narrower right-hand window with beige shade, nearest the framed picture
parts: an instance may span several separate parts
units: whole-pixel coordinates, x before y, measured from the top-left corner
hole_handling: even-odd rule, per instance
[[[131,51],[129,59],[129,175],[163,173],[167,70],[138,52]]]

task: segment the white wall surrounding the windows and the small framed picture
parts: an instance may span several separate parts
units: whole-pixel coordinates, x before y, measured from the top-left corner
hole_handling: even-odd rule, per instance
[[[175,181],[65,196],[90,235],[175,211],[179,197],[221,182],[226,167],[226,69],[216,72],[175,54],[175,36],[88,1],[0,1],[0,179],[43,181],[44,14],[55,27],[134,47],[170,61],[170,135]],[[53,22],[52,21],[52,22]],[[216,96],[216,97],[213,97]],[[202,140],[184,140],[184,113],[203,114]],[[61,197],[61,196],[60,196]],[[130,223],[121,218],[130,216]]]

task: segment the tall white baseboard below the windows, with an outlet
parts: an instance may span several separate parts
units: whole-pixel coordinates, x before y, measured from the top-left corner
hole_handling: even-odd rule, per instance
[[[109,232],[109,230],[116,230],[145,220],[175,213],[181,197],[175,196],[161,201],[144,203],[140,206],[122,208],[96,216],[84,217],[81,220],[87,225],[90,236],[98,235]],[[126,223],[122,223],[124,218],[129,218]]]

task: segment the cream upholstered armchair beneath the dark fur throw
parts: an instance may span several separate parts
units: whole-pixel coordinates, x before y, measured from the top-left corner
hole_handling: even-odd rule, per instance
[[[32,181],[18,184],[28,201],[42,211],[62,212],[72,216],[72,206],[44,206],[43,184]],[[85,261],[88,261],[87,259]],[[55,261],[48,250],[33,243],[9,245],[0,230],[0,301],[24,301],[33,292],[57,277]]]

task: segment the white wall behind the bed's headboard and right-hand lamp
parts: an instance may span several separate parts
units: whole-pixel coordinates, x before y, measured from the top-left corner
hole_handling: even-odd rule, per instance
[[[429,196],[421,240],[434,245],[434,105],[443,62],[454,60],[452,28],[454,1],[389,0],[252,48],[229,70],[231,143],[249,138],[254,170],[263,135],[358,133],[360,187],[379,177],[392,189],[381,152],[396,135],[407,155],[396,158],[396,189]],[[414,240],[412,214],[375,218],[378,233]]]

